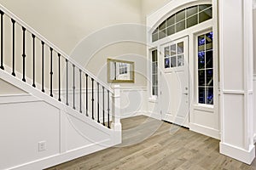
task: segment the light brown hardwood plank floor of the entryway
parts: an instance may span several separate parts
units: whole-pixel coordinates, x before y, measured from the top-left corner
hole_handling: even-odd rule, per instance
[[[218,153],[217,139],[146,116],[123,119],[123,142],[48,170],[255,169]]]

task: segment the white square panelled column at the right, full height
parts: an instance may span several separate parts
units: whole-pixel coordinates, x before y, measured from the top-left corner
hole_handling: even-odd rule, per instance
[[[232,0],[228,0],[231,2]],[[220,72],[221,72],[221,142],[220,153],[233,157],[239,161],[243,161],[247,164],[251,164],[255,157],[255,147],[253,144],[253,0],[236,1],[233,7],[229,7],[227,1],[218,1],[219,3],[219,30],[220,30]],[[230,11],[229,11],[230,9]],[[227,11],[228,10],[228,11]],[[236,15],[229,15],[231,11],[238,10]],[[227,15],[226,15],[227,14]],[[235,25],[237,28],[232,31],[232,34],[237,34],[239,42],[235,43],[236,53],[230,50],[229,46],[229,29],[230,26],[227,20],[232,20],[234,16],[238,17]],[[234,18],[235,19],[235,18]],[[236,20],[236,19],[235,19]],[[227,35],[226,35],[227,33]],[[231,32],[230,32],[231,33]],[[224,37],[226,39],[224,39]],[[238,48],[239,47],[239,48]],[[227,49],[226,49],[227,48]],[[232,65],[229,65],[224,59],[231,59],[233,55],[235,57],[234,62],[236,66],[241,66],[241,71],[236,71],[240,75],[237,77],[240,82],[240,86],[232,85],[227,79],[227,75],[230,75]],[[226,63],[225,63],[226,62]],[[240,63],[238,63],[240,62]],[[224,77],[226,75],[226,77]],[[224,82],[227,82],[224,83]],[[224,87],[224,84],[227,86]],[[233,89],[234,88],[234,89]],[[236,89],[237,88],[237,89]],[[230,99],[236,100],[236,107],[239,111],[232,111],[232,104]],[[241,100],[239,103],[238,99]],[[241,111],[240,111],[241,110]],[[232,113],[236,115],[235,119],[232,119]],[[236,124],[239,126],[237,127]],[[236,130],[239,128],[240,132],[236,134]],[[234,129],[232,132],[231,129]],[[233,134],[234,133],[234,134]],[[234,137],[232,137],[234,135]],[[236,135],[236,137],[235,137]],[[236,141],[235,141],[236,140]]]

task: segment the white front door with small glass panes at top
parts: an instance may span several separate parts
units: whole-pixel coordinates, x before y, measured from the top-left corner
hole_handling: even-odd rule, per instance
[[[160,47],[162,120],[189,127],[188,37]]]

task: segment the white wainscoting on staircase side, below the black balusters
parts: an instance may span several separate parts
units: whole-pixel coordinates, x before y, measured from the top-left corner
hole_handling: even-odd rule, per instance
[[[120,132],[31,94],[0,96],[0,169],[44,169],[120,143]],[[45,142],[45,150],[38,143]]]

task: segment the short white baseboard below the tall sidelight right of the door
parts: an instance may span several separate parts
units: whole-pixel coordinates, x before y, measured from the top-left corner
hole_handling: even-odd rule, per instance
[[[195,123],[190,122],[189,123],[189,129],[191,131],[194,131],[196,133],[201,133],[207,136],[210,136],[214,139],[220,139],[220,134],[217,129],[210,128],[210,127],[204,127]]]

